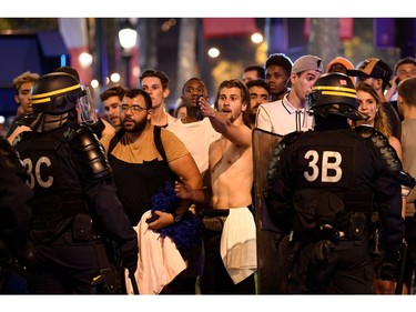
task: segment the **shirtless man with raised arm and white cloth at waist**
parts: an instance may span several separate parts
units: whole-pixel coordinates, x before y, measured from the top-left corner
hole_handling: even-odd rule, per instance
[[[243,122],[248,102],[246,85],[236,79],[221,83],[215,98],[217,111],[206,99],[200,100],[202,113],[222,133],[222,138],[210,145],[211,188],[192,190],[184,179],[175,184],[180,198],[204,203],[212,201],[213,209],[202,212],[205,261],[201,291],[205,294],[255,293],[255,223],[250,211],[252,131]],[[234,252],[244,253],[241,262],[231,261]]]

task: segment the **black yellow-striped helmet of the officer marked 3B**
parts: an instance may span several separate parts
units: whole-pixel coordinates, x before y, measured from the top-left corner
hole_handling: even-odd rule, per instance
[[[367,119],[358,111],[357,93],[348,76],[339,72],[319,77],[308,94],[310,112],[327,117],[342,115],[352,120]]]

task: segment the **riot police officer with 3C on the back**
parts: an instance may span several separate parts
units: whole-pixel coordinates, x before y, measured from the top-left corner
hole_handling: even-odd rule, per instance
[[[92,130],[78,122],[85,95],[73,76],[42,76],[31,93],[37,114],[31,131],[13,141],[34,192],[34,293],[95,293],[95,284],[116,292],[120,275],[110,250],[121,266],[136,268],[136,233],[116,197],[108,159]]]

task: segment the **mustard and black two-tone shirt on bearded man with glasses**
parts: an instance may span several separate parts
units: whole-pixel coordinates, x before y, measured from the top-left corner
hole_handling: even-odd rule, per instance
[[[173,182],[175,179],[168,163],[189,154],[189,151],[174,133],[161,128],[165,161],[158,151],[153,125],[140,144],[131,142],[124,134],[115,147],[110,149],[111,141],[116,140],[114,135],[102,138],[101,143],[113,169],[120,201],[134,227],[142,214],[151,209],[152,197],[166,182]]]

